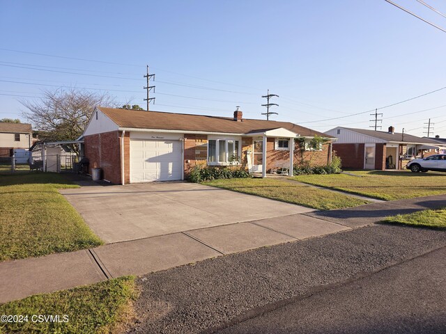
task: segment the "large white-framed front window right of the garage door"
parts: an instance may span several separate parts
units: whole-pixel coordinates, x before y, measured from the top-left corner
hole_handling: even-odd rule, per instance
[[[240,162],[239,141],[210,139],[208,141],[208,163],[229,164]]]

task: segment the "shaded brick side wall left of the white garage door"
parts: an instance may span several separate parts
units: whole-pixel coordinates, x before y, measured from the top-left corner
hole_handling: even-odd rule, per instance
[[[84,155],[92,168],[101,168],[102,177],[112,183],[121,183],[121,144],[117,131],[92,134],[84,138]],[[130,152],[130,150],[129,150]]]

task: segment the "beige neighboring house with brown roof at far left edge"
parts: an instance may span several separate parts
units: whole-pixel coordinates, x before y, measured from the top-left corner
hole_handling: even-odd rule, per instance
[[[0,122],[0,156],[11,157],[16,148],[32,145],[31,124]]]

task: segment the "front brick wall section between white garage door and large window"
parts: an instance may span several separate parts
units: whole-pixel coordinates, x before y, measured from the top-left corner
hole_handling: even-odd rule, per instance
[[[208,136],[206,134],[185,134],[184,136],[184,174],[187,177],[194,166],[206,165]]]

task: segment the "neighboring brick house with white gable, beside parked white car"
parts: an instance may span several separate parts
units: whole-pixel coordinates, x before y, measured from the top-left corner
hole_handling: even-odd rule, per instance
[[[394,127],[388,132],[335,127],[325,134],[337,137],[333,151],[344,168],[403,169],[410,159],[443,146],[429,138],[394,132]]]

